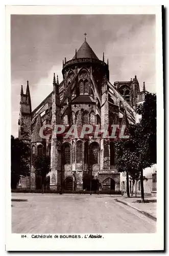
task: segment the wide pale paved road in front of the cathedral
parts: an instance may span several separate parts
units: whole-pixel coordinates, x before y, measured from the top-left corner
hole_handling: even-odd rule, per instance
[[[12,232],[156,232],[155,221],[114,199],[108,195],[12,194]]]

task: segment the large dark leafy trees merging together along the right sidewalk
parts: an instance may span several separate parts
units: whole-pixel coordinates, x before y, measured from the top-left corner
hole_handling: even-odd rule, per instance
[[[115,143],[115,157],[119,172],[140,174],[141,201],[144,202],[143,169],[156,163],[156,95],[146,93],[137,113],[141,119],[129,126],[129,139],[119,139]]]

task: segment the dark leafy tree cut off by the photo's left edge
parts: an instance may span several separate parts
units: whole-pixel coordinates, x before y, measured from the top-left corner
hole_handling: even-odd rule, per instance
[[[11,135],[11,188],[30,175],[30,146]]]

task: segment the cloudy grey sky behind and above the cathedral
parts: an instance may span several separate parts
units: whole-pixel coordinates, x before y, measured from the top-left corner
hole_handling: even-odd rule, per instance
[[[11,15],[12,135],[18,137],[20,88],[29,80],[32,110],[62,81],[62,61],[86,41],[109,59],[110,82],[137,75],[142,90],[156,92],[155,15]]]

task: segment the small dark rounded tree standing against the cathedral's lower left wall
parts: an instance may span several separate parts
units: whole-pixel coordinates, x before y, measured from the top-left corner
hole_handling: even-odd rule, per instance
[[[38,155],[34,157],[35,174],[40,176],[41,189],[44,193],[46,175],[51,172],[51,158],[50,156]]]

